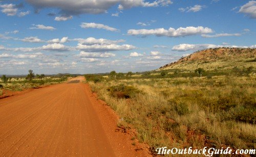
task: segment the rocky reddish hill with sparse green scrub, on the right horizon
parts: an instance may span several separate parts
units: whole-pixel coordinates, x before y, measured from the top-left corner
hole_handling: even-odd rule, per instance
[[[208,70],[214,69],[230,69],[237,67],[256,67],[256,48],[210,48],[182,57],[176,62],[166,64],[159,70],[167,69],[183,69],[194,70],[196,68],[204,68]]]

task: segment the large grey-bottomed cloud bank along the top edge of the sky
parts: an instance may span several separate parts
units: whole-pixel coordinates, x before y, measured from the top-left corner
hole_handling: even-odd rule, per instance
[[[130,9],[133,7],[158,7],[172,4],[170,0],[156,0],[153,3],[144,0],[80,0],[73,2],[70,0],[27,0],[36,9],[58,8],[61,15],[80,15],[80,14],[100,14],[106,13],[111,7],[119,4],[118,9]]]

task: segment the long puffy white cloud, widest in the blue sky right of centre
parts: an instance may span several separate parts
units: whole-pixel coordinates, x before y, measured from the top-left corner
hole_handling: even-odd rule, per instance
[[[213,31],[209,28],[203,28],[202,26],[199,27],[186,27],[186,28],[178,28],[177,30],[173,28],[169,28],[165,30],[161,29],[152,29],[152,30],[128,30],[127,34],[129,35],[141,35],[141,36],[166,36],[166,37],[180,37],[180,36],[190,36],[190,35],[197,35],[197,34],[207,34],[212,33]]]

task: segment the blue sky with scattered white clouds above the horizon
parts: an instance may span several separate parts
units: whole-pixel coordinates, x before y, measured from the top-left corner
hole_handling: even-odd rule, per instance
[[[256,1],[0,0],[0,21],[0,74],[147,71],[256,48]]]

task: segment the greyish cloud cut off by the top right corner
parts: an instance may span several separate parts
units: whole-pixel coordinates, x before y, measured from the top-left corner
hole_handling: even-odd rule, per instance
[[[250,18],[256,18],[256,1],[249,1],[240,8],[239,12],[248,15]]]

